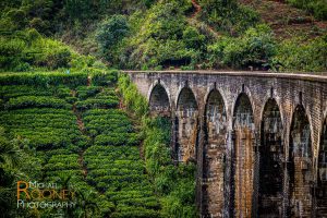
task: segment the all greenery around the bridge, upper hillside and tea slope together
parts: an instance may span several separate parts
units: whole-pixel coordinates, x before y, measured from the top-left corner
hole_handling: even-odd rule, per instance
[[[169,119],[150,117],[119,70],[327,70],[326,0],[1,0],[0,10],[5,218],[198,216],[194,162],[173,162]],[[17,208],[17,181],[73,191],[74,207]]]

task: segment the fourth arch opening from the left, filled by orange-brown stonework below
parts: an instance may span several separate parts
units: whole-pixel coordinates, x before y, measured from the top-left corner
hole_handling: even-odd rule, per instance
[[[252,217],[255,135],[250,98],[244,93],[235,102],[233,114],[233,207],[235,217]]]

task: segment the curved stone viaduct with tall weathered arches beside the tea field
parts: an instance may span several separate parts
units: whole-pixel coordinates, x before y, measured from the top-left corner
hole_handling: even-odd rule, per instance
[[[196,162],[202,217],[327,217],[327,75],[125,73]]]

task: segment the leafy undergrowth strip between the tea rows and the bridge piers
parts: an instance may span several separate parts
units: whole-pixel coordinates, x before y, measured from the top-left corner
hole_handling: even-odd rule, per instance
[[[141,95],[136,88],[124,75],[121,75],[119,82],[124,100],[129,100],[129,104],[133,102],[131,105],[137,109],[137,97],[141,97]],[[134,93],[134,101],[129,98],[130,93]],[[179,166],[173,165],[169,148],[170,121],[165,118],[150,119],[146,117],[146,111],[134,110],[134,108],[129,109],[135,111],[136,114],[138,113],[140,117],[143,116],[145,165],[156,193],[160,196],[161,216],[196,217],[197,211],[194,203],[195,166],[191,162]]]

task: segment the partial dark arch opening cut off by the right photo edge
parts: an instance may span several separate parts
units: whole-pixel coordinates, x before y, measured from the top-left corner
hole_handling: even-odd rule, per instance
[[[317,217],[326,217],[327,209],[327,117],[325,119],[319,146],[318,182],[316,192]]]

